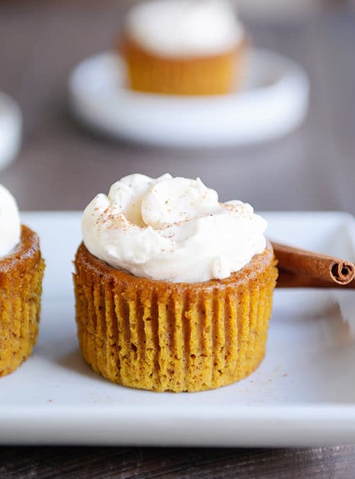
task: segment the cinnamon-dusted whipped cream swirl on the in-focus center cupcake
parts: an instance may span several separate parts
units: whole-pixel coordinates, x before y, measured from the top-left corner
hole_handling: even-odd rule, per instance
[[[82,215],[95,257],[135,276],[223,279],[266,248],[266,220],[241,201],[219,203],[200,178],[133,174],[97,195]]]

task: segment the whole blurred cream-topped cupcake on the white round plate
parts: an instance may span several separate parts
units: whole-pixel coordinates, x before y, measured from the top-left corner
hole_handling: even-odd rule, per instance
[[[151,0],[129,11],[117,49],[132,90],[223,95],[240,84],[245,34],[227,1]]]

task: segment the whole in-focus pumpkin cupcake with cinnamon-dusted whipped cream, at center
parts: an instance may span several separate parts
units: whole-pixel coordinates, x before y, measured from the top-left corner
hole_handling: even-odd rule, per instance
[[[82,215],[77,335],[107,379],[152,391],[232,384],[266,352],[277,278],[266,221],[202,181],[126,176]]]

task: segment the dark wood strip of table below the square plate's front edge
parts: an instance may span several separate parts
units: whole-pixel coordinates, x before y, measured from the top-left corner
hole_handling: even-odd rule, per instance
[[[5,465],[4,465],[5,464]],[[1,479],[352,479],[355,446],[316,449],[2,448]]]

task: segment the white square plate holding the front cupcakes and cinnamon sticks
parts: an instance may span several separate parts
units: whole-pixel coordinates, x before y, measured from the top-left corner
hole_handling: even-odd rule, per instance
[[[273,212],[265,217],[272,239],[355,259],[350,215]],[[47,262],[43,313],[32,357],[0,379],[0,443],[355,442],[355,344],[332,291],[276,291],[266,358],[246,380],[190,394],[128,389],[92,372],[78,349],[71,271],[81,239],[80,213],[28,212],[23,222],[40,235]],[[355,291],[351,294],[355,304]]]

